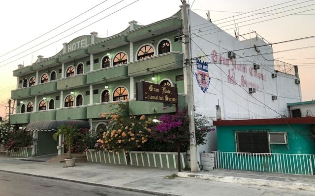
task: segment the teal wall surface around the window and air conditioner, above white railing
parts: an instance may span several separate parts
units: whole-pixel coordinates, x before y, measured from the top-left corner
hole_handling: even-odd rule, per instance
[[[217,126],[218,150],[236,152],[235,131],[268,130],[269,132],[287,132],[288,146],[271,144],[271,153],[315,154],[315,142],[311,138],[310,124],[249,125],[249,126]]]

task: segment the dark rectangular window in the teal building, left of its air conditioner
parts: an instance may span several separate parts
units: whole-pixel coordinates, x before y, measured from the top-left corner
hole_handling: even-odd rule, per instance
[[[267,131],[237,131],[237,152],[269,153]]]

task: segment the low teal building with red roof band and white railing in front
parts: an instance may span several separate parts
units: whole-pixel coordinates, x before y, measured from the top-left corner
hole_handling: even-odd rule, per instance
[[[217,168],[314,174],[315,118],[215,121]]]

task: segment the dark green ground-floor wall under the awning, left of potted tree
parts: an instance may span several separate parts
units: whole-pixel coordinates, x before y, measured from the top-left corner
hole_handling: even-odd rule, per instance
[[[58,141],[53,138],[56,131],[38,131],[37,156],[58,153]]]

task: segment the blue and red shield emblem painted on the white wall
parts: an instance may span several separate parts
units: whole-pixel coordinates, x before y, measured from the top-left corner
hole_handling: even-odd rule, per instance
[[[195,77],[200,89],[205,93],[208,90],[211,79],[208,72],[208,63],[197,59],[197,73],[195,73]]]

